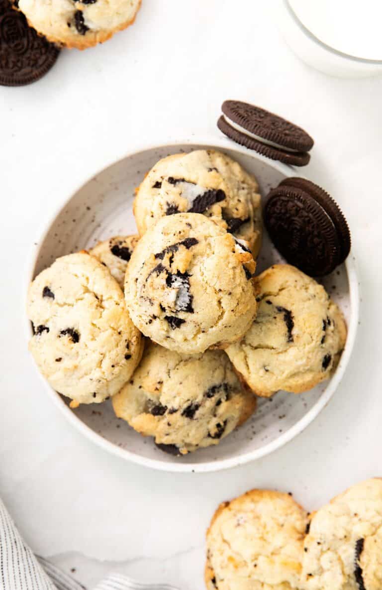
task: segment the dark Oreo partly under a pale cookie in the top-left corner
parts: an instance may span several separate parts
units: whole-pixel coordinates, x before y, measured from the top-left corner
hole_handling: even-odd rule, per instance
[[[25,86],[54,65],[60,50],[29,27],[22,12],[0,0],[0,84]]]

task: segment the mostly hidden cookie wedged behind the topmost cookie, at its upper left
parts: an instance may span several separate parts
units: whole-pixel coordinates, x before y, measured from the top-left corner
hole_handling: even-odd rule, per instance
[[[138,235],[116,235],[109,240],[98,242],[94,248],[89,250],[89,254],[106,264],[111,276],[116,279],[121,289],[124,285],[127,264],[138,240]]]

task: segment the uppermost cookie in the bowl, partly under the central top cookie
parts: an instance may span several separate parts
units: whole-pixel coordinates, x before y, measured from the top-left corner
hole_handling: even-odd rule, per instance
[[[215,216],[256,257],[262,234],[259,186],[238,162],[215,150],[163,158],[139,186],[134,214],[140,235],[164,215],[183,212]]]

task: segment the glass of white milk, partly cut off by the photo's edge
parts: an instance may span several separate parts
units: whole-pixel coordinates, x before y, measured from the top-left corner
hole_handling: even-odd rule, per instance
[[[305,63],[325,74],[382,74],[382,0],[278,0],[279,28]]]

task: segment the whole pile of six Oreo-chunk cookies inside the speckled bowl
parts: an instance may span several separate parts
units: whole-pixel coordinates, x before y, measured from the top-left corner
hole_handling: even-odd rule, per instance
[[[218,444],[256,395],[328,378],[343,316],[295,267],[254,276],[260,202],[256,179],[228,156],[169,156],[137,190],[139,235],[58,258],[35,278],[29,348],[71,407],[113,396],[118,417],[185,454]]]

